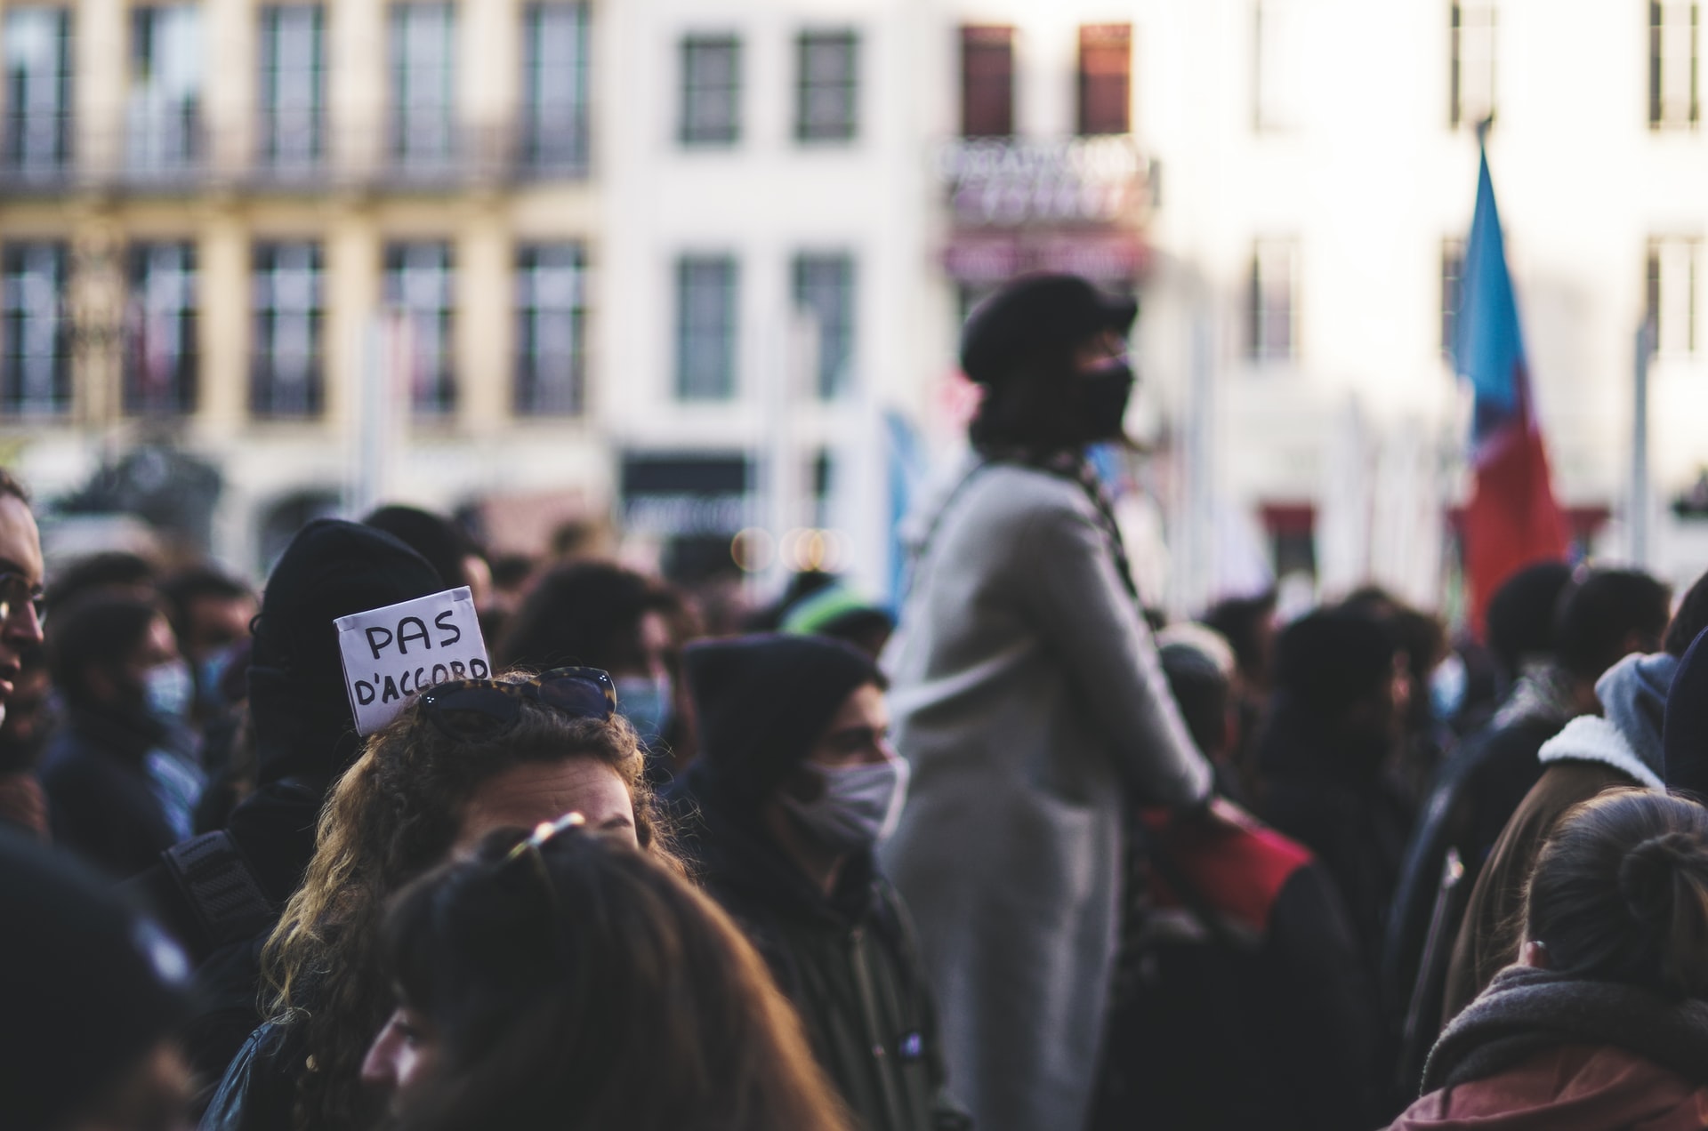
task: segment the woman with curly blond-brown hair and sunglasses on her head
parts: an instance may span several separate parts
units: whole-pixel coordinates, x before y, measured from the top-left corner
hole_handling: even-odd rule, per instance
[[[376,1112],[367,1042],[391,1010],[384,904],[497,829],[570,810],[670,863],[634,728],[610,677],[458,680],[417,695],[333,788],[314,859],[261,953],[265,1011],[225,1071],[203,1131],[343,1131]]]

